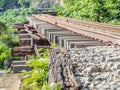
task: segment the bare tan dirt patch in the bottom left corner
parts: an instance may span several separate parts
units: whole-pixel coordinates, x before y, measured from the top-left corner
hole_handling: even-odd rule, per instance
[[[19,90],[21,79],[17,74],[4,74],[0,78],[0,90]]]

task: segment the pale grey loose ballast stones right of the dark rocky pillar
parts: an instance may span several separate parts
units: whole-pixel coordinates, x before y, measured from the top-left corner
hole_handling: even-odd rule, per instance
[[[119,64],[114,63],[117,62],[118,60],[108,61],[107,59],[114,57],[118,58],[120,54],[119,50],[120,48],[108,46],[97,47],[95,46],[77,49],[75,50],[75,53],[72,53],[71,60],[72,62],[77,63],[77,66],[74,68],[74,70],[78,71],[77,74],[79,73],[77,75],[76,72],[74,72],[74,75],[77,78],[80,77],[80,82],[83,83],[84,86],[84,88],[82,89],[86,88],[89,90],[110,89],[108,88],[109,83],[106,84],[106,82],[114,82],[115,77],[118,77],[118,75],[114,74],[116,72],[118,73],[118,71],[116,70],[119,69]],[[76,54],[79,54],[79,57]],[[77,57],[75,57],[74,55]],[[90,84],[88,82],[90,82]],[[106,86],[102,87],[104,84],[106,84]]]

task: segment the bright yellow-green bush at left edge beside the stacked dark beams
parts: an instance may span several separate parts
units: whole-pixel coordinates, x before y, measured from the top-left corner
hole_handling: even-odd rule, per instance
[[[6,58],[11,56],[11,49],[0,42],[0,68],[3,68],[3,62]]]

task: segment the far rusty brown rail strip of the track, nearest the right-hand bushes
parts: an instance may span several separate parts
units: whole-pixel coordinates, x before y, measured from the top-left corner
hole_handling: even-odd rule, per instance
[[[50,15],[47,15],[47,16],[50,16]],[[77,20],[77,19],[73,19],[73,18],[63,18],[63,17],[54,17],[54,18],[57,18],[57,19],[59,18],[61,20],[67,21],[68,23],[74,23],[74,24],[78,24],[78,25],[91,27],[91,28],[97,28],[97,29],[102,29],[102,30],[107,30],[107,31],[112,31],[112,32],[120,32],[120,26],[118,26],[118,25],[111,25],[111,24],[105,24],[105,23],[100,23],[100,22]]]

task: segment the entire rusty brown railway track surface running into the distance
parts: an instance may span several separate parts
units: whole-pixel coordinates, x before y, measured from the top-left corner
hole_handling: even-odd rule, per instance
[[[86,22],[82,20],[79,21],[47,14],[37,14],[33,16],[39,20],[46,21],[72,32],[79,33],[85,37],[92,38],[104,43],[120,45],[120,26],[97,22]]]

